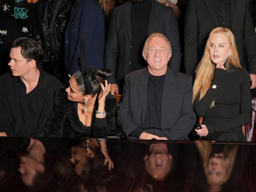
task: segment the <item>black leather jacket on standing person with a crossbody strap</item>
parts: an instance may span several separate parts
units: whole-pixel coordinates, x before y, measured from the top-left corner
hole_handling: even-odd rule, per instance
[[[46,34],[50,28],[52,16],[58,1],[59,0],[42,0],[38,1],[35,6],[32,38],[41,43],[43,49],[45,48]],[[63,0],[61,4],[59,14],[54,23],[52,41],[50,42],[49,50],[52,56],[58,55],[64,51],[65,30],[69,22],[70,11],[73,4],[74,0]]]

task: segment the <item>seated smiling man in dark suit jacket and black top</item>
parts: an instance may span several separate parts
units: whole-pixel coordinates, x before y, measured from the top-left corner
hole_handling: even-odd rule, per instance
[[[143,47],[148,66],[124,78],[117,122],[128,138],[187,140],[195,124],[192,77],[167,67],[171,44],[152,33]]]

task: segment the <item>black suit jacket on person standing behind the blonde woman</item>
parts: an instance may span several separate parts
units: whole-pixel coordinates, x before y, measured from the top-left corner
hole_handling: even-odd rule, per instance
[[[241,65],[250,74],[256,74],[256,35],[248,0],[230,0],[230,21]],[[194,75],[208,36],[216,27],[218,20],[213,0],[190,0],[184,31],[184,63],[187,74]]]

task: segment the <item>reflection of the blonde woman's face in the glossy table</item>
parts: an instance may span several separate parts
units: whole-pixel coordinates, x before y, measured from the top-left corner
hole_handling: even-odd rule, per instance
[[[208,183],[221,185],[227,172],[227,166],[228,161],[225,161],[222,153],[216,157],[211,157],[207,165]]]

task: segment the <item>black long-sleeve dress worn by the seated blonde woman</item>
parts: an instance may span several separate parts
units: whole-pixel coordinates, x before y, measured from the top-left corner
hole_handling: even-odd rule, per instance
[[[208,129],[209,134],[203,140],[245,141],[241,126],[249,122],[251,94],[250,76],[244,68],[215,68],[210,88],[200,101],[199,97],[200,94],[193,105],[197,115],[204,117]],[[210,109],[213,100],[215,107]]]

